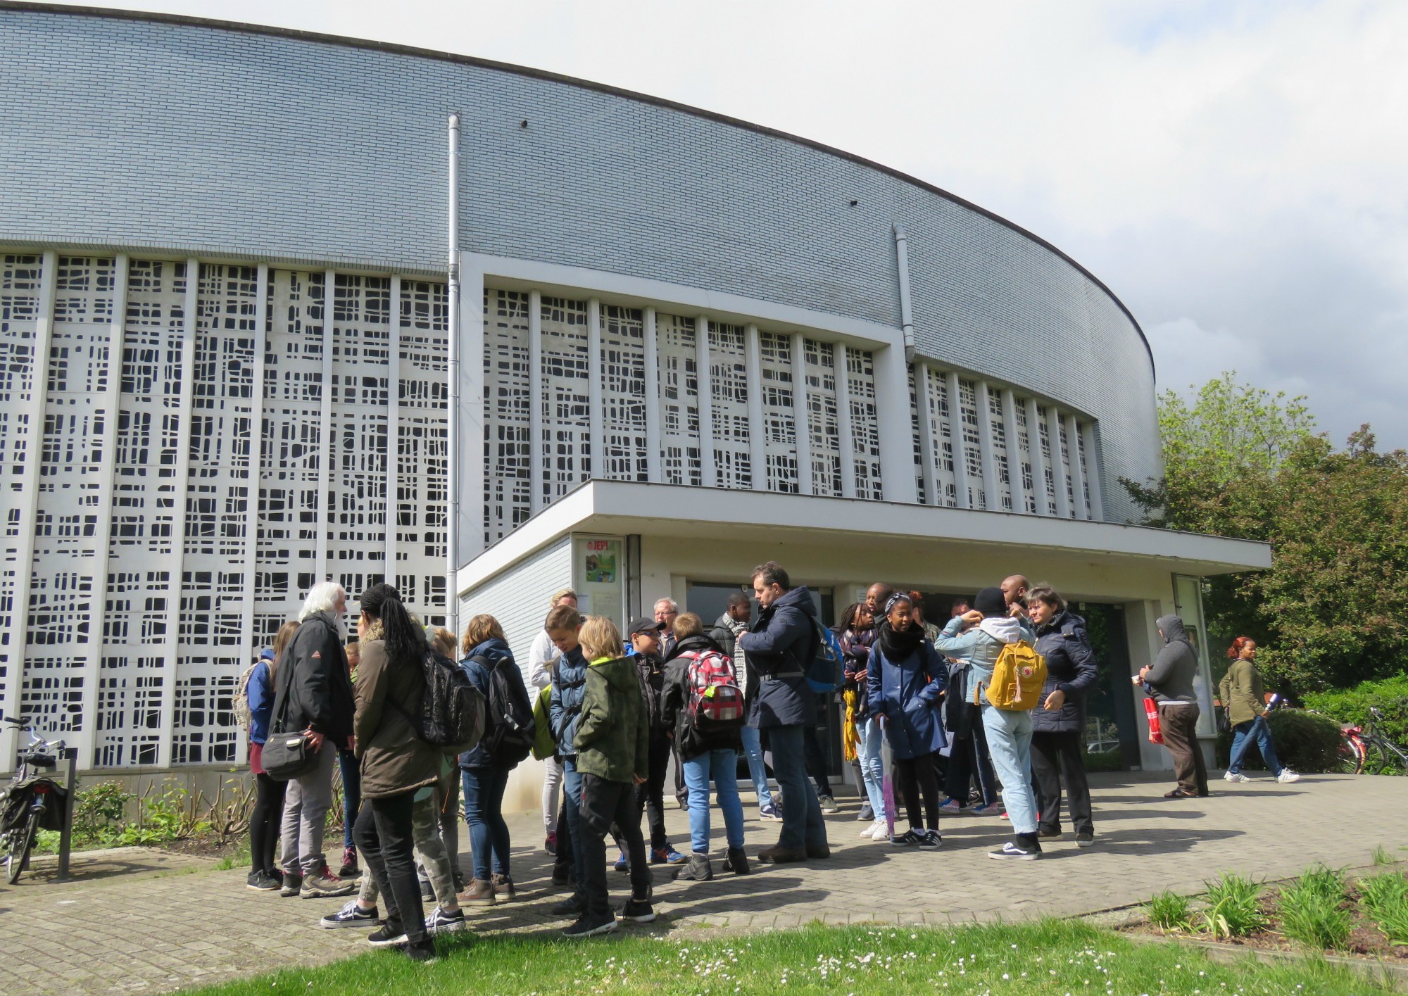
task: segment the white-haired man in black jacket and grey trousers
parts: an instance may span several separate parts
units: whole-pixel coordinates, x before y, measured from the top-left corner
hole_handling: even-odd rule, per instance
[[[289,779],[283,805],[282,896],[314,899],[345,896],[356,885],[342,882],[328,868],[322,834],[332,805],[332,768],[338,750],[352,748],[356,712],[342,644],[348,633],[348,594],[337,581],[313,585],[298,612],[293,634],[279,661],[273,716],[283,716],[273,733],[301,732],[315,762]],[[287,710],[287,712],[284,712]]]

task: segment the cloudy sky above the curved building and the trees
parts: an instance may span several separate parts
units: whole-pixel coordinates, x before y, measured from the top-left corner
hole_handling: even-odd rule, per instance
[[[92,0],[101,3],[103,0]],[[1042,235],[1162,388],[1408,447],[1408,3],[114,3],[549,69],[876,159]]]

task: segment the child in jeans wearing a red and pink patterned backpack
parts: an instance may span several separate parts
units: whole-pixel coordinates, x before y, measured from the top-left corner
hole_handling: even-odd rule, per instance
[[[714,779],[718,807],[724,810],[728,858],[724,867],[748,875],[743,854],[743,803],[738,798],[739,730],[743,726],[743,692],[734,663],[704,634],[704,620],[693,612],[674,618],[674,649],[665,661],[662,715],[674,727],[684,784],[690,792],[689,865],[676,876],[684,882],[714,878],[708,860],[708,784]]]

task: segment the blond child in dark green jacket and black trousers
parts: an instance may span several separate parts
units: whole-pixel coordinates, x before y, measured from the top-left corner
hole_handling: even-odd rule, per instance
[[[580,815],[573,830],[577,848],[577,883],[583,912],[562,931],[566,937],[593,937],[617,927],[607,892],[605,836],[614,823],[631,855],[631,898],[622,920],[648,923],[650,865],[641,837],[635,786],[650,770],[650,720],[636,677],[635,663],[621,656],[621,633],[605,616],[589,616],[579,633],[587,658],[582,712],[574,723],[573,768],[582,781]],[[560,678],[560,668],[559,668]]]

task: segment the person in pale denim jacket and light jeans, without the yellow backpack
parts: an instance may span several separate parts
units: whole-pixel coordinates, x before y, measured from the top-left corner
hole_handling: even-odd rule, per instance
[[[1001,588],[984,588],[973,609],[949,619],[934,641],[941,654],[969,661],[967,699],[983,708],[983,730],[993,753],[993,767],[1002,782],[1002,802],[1012,822],[1012,838],[990,851],[990,858],[1035,861],[1042,857],[1036,838],[1036,795],[1032,792],[1032,713],[994,709],[984,689],[993,681],[993,665],[1008,643],[1035,641],[1026,619],[1008,615]]]

